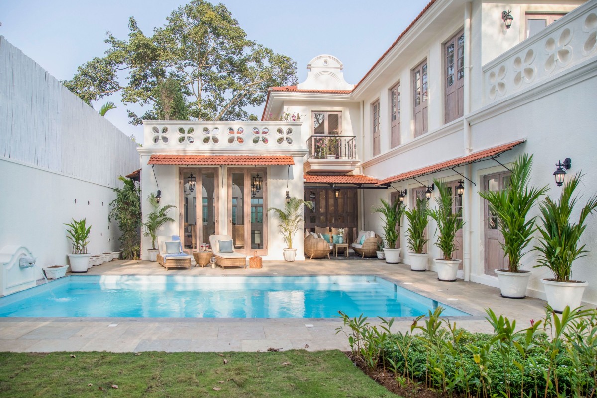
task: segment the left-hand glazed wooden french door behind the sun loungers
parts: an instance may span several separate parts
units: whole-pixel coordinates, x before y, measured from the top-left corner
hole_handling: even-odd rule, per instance
[[[195,251],[220,233],[219,169],[187,167],[179,169],[179,236],[184,251]]]

